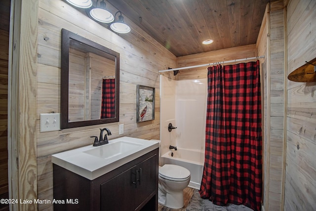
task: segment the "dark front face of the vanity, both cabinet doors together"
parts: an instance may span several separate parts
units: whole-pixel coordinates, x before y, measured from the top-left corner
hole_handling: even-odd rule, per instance
[[[158,156],[155,154],[101,184],[101,211],[138,210],[153,192],[157,192],[157,187]]]

